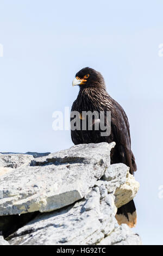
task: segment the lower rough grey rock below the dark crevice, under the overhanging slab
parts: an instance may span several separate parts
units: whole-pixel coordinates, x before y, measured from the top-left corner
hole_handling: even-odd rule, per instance
[[[11,245],[137,245],[140,237],[117,226],[114,196],[105,184],[92,188],[86,199],[37,216],[9,237]]]

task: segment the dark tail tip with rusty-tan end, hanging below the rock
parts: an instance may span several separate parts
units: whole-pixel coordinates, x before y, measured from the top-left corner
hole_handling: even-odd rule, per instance
[[[118,208],[115,217],[119,225],[126,223],[130,228],[134,228],[136,225],[136,208],[134,200],[131,200],[129,203]]]

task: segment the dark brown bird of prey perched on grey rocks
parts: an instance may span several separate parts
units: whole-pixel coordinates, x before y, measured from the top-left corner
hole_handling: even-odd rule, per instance
[[[111,163],[124,163],[130,167],[130,173],[136,171],[135,157],[131,151],[131,140],[129,122],[123,108],[106,92],[104,78],[98,71],[91,68],[84,68],[76,74],[73,86],[79,86],[79,94],[73,102],[72,111],[79,112],[79,120],[83,118],[83,111],[111,112],[111,132],[109,136],[101,136],[101,130],[71,129],[71,138],[75,145],[83,143],[116,142],[115,148],[111,151]],[[83,113],[82,113],[83,112]],[[93,119],[95,126],[96,119]],[[72,118],[71,118],[72,121]],[[134,201],[118,208],[116,219],[118,224],[126,223],[129,227],[136,224],[136,209]]]

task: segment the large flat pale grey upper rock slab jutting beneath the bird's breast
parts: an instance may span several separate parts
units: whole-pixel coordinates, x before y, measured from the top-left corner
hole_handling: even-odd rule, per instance
[[[81,144],[35,160],[27,156],[30,164],[1,176],[0,216],[53,211],[82,199],[110,166],[114,145]]]

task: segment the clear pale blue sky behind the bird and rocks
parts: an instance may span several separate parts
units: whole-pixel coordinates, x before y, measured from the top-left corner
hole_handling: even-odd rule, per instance
[[[162,1],[0,0],[0,151],[54,152],[72,145],[52,113],[71,107],[77,71],[90,66],[126,111],[141,188],[136,232],[163,245]]]

